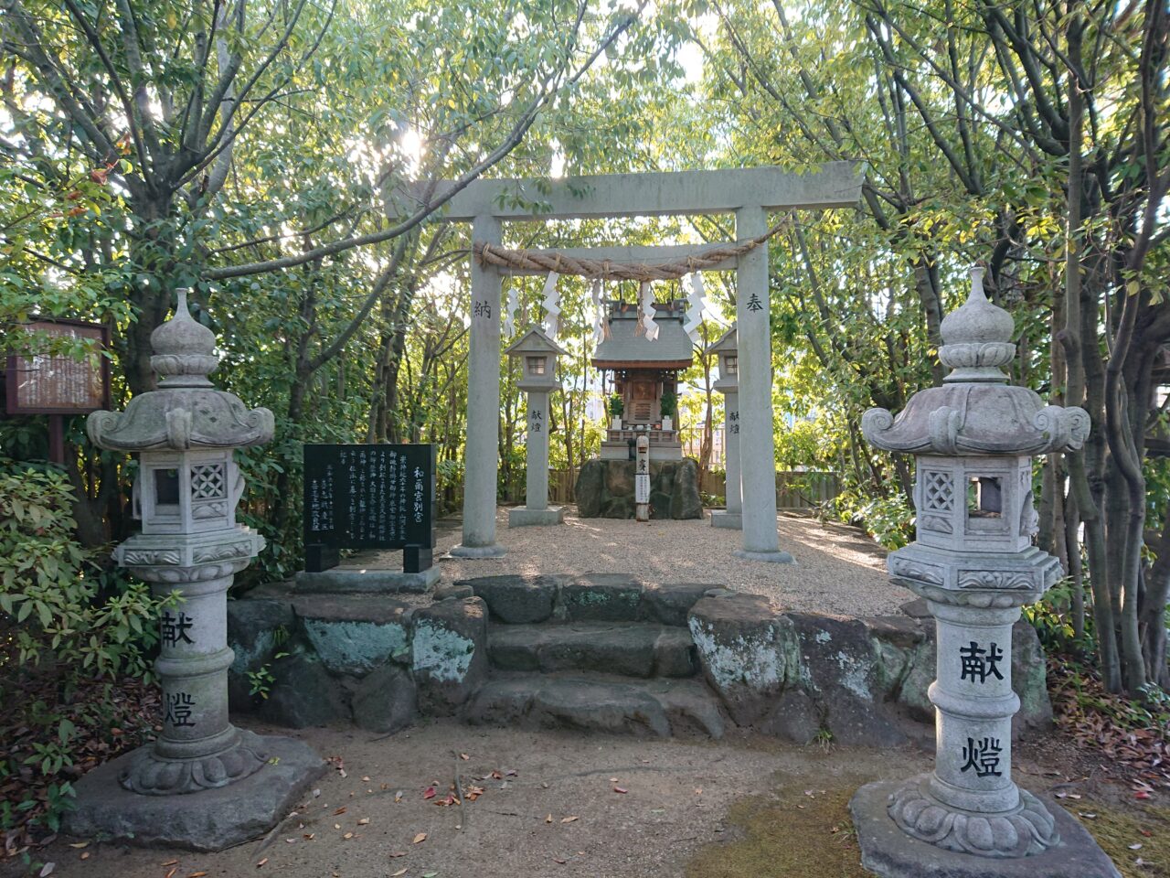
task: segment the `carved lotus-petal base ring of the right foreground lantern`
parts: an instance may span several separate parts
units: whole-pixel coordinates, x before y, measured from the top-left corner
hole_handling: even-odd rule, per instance
[[[929,793],[931,775],[907,781],[889,796],[889,816],[908,836],[977,857],[1031,857],[1060,843],[1044,803],[1018,789],[1019,803],[1005,811],[968,811]]]

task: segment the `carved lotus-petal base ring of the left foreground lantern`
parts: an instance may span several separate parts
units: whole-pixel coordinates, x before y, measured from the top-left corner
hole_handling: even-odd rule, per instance
[[[177,796],[227,787],[264,767],[269,754],[263,738],[232,726],[227,733],[227,747],[193,759],[167,757],[158,752],[158,745],[142,747],[131,754],[118,783],[147,796]]]

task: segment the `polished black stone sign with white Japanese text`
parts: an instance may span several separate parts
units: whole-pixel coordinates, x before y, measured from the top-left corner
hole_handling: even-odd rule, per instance
[[[305,570],[340,549],[402,549],[406,572],[433,563],[434,445],[305,445]]]

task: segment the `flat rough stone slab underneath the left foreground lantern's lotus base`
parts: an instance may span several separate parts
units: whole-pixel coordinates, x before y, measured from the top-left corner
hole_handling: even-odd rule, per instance
[[[77,808],[64,831],[82,838],[143,846],[220,851],[268,832],[325,771],[312,749],[291,738],[266,738],[269,763],[229,787],[184,796],[144,796],[118,783],[128,753],[98,766],[76,784]]]

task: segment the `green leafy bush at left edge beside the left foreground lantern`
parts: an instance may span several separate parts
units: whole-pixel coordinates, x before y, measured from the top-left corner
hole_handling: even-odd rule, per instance
[[[56,831],[82,766],[152,721],[140,681],[171,598],[103,570],[73,539],[73,505],[62,473],[0,458],[0,831],[16,851]]]

